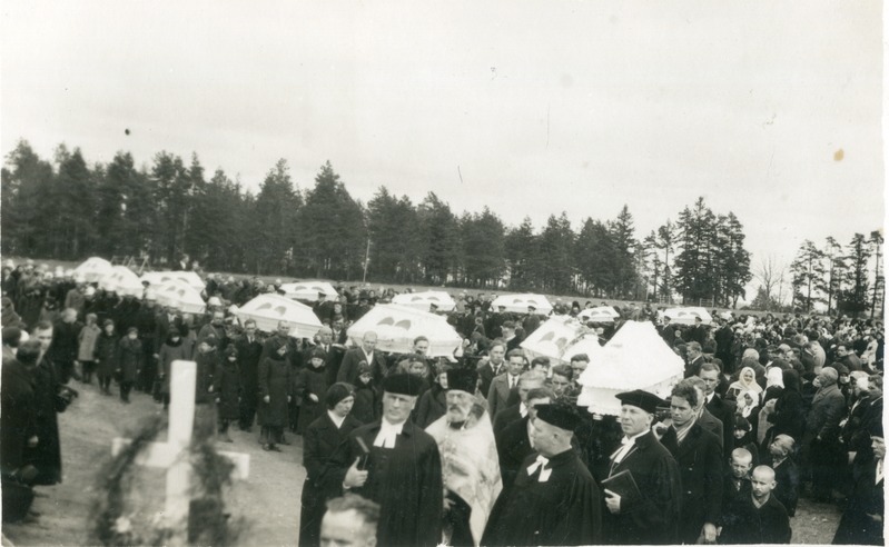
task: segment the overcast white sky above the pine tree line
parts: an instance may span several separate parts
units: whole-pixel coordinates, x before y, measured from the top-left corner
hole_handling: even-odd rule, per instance
[[[638,237],[704,196],[754,262],[789,262],[882,226],[881,18],[878,0],[4,0],[0,146],[195,151],[254,191],[278,158],[300,188],[329,159],[365,202],[432,190],[539,228],[628,203]]]

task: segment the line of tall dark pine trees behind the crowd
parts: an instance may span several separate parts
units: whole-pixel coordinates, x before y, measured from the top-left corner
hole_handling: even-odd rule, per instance
[[[565,212],[536,230],[530,218],[506,226],[487,207],[457,213],[434,192],[415,203],[381,187],[362,203],[329,161],[314,182],[298,188],[281,159],[254,195],[221,169],[208,176],[197,155],[186,162],[161,151],[137,168],[118,152],[90,166],[77,148],[61,145],[49,161],[21,140],[2,169],[2,251],[148,257],[156,267],[187,253],[209,271],[356,280],[366,269],[376,282],[723,307],[745,298],[753,277],[741,221],[703,198],[636,238],[626,206],[614,219],[583,219],[577,231]],[[801,249],[794,301],[811,307],[827,295],[834,308],[871,306],[872,238],[856,245],[855,256]]]

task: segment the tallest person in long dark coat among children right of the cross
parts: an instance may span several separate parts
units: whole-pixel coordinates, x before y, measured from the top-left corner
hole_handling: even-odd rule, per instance
[[[287,341],[273,338],[268,356],[259,364],[259,441],[263,450],[277,450],[284,438],[284,428],[289,415],[287,404],[290,401],[293,380],[290,364],[286,359]]]

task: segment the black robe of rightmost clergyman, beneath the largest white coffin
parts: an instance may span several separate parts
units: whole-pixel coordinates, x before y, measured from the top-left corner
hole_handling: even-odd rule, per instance
[[[609,476],[628,470],[642,498],[613,515],[603,511],[605,543],[613,545],[670,545],[676,543],[681,483],[679,467],[670,451],[649,431],[620,464],[612,464]]]

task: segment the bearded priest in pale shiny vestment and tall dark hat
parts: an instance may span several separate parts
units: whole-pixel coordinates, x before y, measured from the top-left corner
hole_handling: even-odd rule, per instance
[[[480,544],[503,489],[494,430],[476,398],[477,382],[475,370],[448,370],[446,414],[426,428],[442,457],[445,539],[454,546]]]

